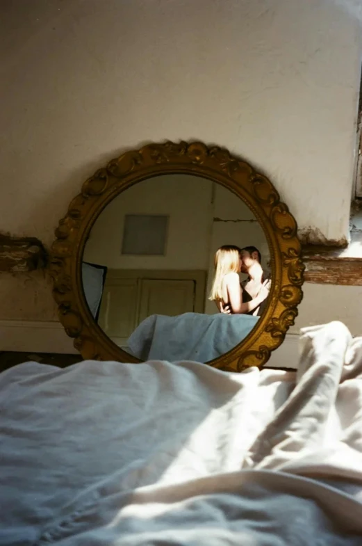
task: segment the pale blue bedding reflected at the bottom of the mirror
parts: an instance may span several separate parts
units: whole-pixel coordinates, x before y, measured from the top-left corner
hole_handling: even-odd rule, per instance
[[[208,362],[238,345],[258,318],[247,314],[154,314],[134,330],[127,346],[140,360]]]

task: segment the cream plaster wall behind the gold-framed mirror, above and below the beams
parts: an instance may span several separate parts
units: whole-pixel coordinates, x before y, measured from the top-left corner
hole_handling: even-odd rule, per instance
[[[81,182],[108,159],[149,140],[196,138],[265,171],[301,232],[311,226],[321,238],[345,238],[360,5],[1,2],[0,230],[49,245]],[[47,289],[38,274],[2,275],[0,317],[54,317]],[[305,291],[303,316],[319,322],[330,301],[322,294],[336,292]],[[361,296],[359,288],[336,291]],[[343,297],[329,318],[349,321],[351,309],[361,323],[361,310]]]

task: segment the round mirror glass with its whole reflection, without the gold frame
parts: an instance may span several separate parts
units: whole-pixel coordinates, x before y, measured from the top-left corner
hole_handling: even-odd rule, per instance
[[[238,196],[207,179],[161,175],[101,212],[85,245],[83,291],[127,353],[208,362],[256,326],[269,260],[261,225]]]

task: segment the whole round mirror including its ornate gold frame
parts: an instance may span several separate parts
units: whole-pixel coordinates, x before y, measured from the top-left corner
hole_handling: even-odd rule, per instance
[[[83,184],[56,235],[54,296],[84,358],[261,366],[302,298],[293,216],[217,147],[126,152]]]

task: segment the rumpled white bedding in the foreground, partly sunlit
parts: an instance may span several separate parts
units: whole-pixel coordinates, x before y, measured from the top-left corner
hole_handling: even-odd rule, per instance
[[[361,545],[362,338],[334,322],[302,346],[297,376],[4,372],[0,545]]]

